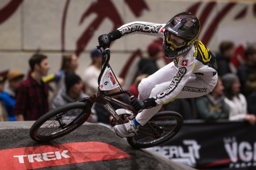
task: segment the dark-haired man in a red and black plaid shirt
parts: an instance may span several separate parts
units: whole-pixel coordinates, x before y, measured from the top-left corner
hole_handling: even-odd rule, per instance
[[[35,54],[29,59],[29,65],[31,73],[16,91],[14,115],[17,121],[35,121],[49,111],[48,85],[42,81],[50,69],[47,56]]]

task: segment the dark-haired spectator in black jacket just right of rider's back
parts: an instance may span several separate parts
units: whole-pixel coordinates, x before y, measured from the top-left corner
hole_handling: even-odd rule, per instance
[[[229,41],[221,42],[220,53],[216,56],[217,66],[218,66],[218,75],[222,76],[226,73],[232,73],[230,69],[230,59],[235,54],[234,43]]]

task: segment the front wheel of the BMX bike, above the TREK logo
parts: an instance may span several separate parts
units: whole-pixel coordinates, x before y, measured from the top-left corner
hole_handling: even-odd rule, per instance
[[[29,136],[37,142],[50,141],[77,129],[89,118],[92,103],[73,102],[57,107],[40,117],[30,128]],[[65,127],[61,128],[56,116],[61,116]],[[58,125],[59,123],[59,125]]]

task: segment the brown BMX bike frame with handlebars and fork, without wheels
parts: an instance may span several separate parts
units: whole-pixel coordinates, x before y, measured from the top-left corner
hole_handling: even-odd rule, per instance
[[[102,51],[100,49],[100,51]],[[104,64],[104,66],[102,67],[101,69],[101,72],[100,72],[100,75],[98,77],[98,85],[100,87],[100,81],[101,81],[101,78],[102,78],[102,75],[106,69],[106,67],[110,68],[111,71],[112,71],[112,68],[110,67],[110,64],[108,63],[109,60],[110,60],[110,50],[109,49],[106,49],[104,52],[102,52],[102,65]],[[114,72],[112,71],[112,73],[114,74]],[[116,79],[116,75],[114,74],[113,75],[114,78]],[[118,80],[116,79],[118,85],[119,85],[119,82]],[[99,88],[99,91],[98,93],[95,93],[93,95],[91,95],[91,97],[89,97],[89,101],[91,103],[99,103],[101,104],[107,111],[108,113],[110,113],[110,115],[112,115],[112,117],[114,117],[114,119],[118,122],[118,124],[122,125],[124,123],[128,123],[128,119],[129,120],[133,120],[136,115],[138,114],[138,111],[135,111],[134,108],[130,105],[127,105],[126,103],[123,103],[119,100],[116,100],[116,99],[113,99],[111,96],[115,96],[115,95],[120,95],[120,94],[128,94],[130,96],[130,99],[134,99],[134,96],[129,92],[129,91],[126,91],[126,90],[123,90],[121,86],[118,86],[119,89],[120,89],[120,92],[116,92],[116,93],[111,93],[111,94],[108,94],[107,92],[108,91],[101,91],[100,88]],[[88,99],[88,98],[86,98]],[[81,99],[80,101],[83,101],[83,99]],[[123,109],[126,109],[130,112],[132,112],[133,114],[131,116],[129,116],[125,121],[122,120],[122,118],[116,113],[115,109],[110,105],[110,103],[114,104],[114,105],[118,105],[119,107],[123,108]],[[150,133],[147,133],[147,132],[144,132],[142,130],[138,130],[137,132],[138,133],[141,133],[141,134],[144,134],[144,135],[147,135],[147,136],[151,136],[153,138],[157,138],[157,137],[160,137],[161,134],[159,134],[154,127],[152,127],[152,125],[148,122],[146,123],[146,125],[154,132],[154,134],[150,134]]]

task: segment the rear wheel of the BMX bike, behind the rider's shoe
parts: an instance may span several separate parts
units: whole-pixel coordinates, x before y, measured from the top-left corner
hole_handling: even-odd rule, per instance
[[[138,133],[138,135],[135,134],[132,137],[127,137],[127,142],[131,146],[135,148],[150,148],[166,142],[179,132],[183,125],[183,117],[177,112],[163,111],[156,113],[149,122],[159,133],[161,133],[161,137],[152,138]],[[144,125],[139,129],[152,133],[152,130],[147,125]]]

